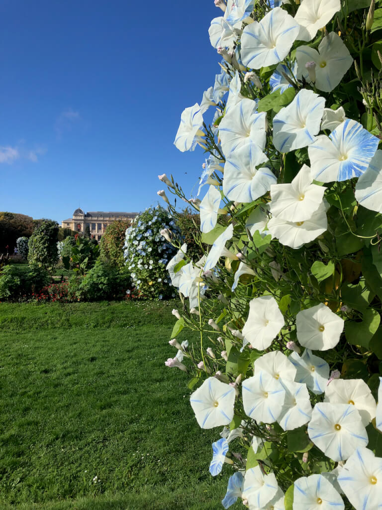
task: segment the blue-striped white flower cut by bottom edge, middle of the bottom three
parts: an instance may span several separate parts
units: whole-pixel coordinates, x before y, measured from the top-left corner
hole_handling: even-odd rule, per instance
[[[322,475],[297,478],[293,490],[293,510],[343,510],[341,496]]]

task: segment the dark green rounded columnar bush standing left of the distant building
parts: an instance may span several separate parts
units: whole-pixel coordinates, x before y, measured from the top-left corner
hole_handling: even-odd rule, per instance
[[[59,225],[57,221],[43,220],[29,240],[28,262],[43,268],[51,268],[58,261],[57,235]]]

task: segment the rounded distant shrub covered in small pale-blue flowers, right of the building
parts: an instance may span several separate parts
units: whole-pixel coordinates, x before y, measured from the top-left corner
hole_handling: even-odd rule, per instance
[[[165,232],[168,239],[161,234],[164,229],[179,235],[173,216],[157,206],[146,209],[126,230],[124,257],[132,285],[148,299],[175,296],[166,266],[176,248],[169,242],[170,234]]]

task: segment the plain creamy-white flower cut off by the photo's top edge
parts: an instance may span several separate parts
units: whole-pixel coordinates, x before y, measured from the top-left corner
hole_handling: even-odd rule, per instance
[[[294,16],[300,25],[297,39],[312,40],[340,9],[340,0],[304,0]]]

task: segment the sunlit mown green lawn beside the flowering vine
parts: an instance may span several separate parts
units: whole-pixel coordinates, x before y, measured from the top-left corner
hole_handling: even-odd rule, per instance
[[[164,364],[173,307],[0,304],[1,508],[223,508],[220,429],[199,428],[189,376]]]

